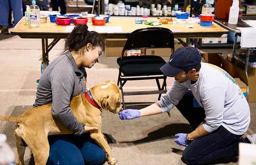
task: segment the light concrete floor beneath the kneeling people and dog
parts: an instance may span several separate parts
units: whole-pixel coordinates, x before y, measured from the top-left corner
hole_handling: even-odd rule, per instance
[[[74,9],[72,9],[74,10]],[[80,12],[80,11],[79,11]],[[70,12],[73,13],[73,12]],[[9,29],[10,31],[11,29]],[[63,39],[50,51],[52,61],[63,48]],[[36,99],[36,81],[40,78],[41,54],[40,39],[22,39],[17,35],[0,34],[0,115],[21,115],[32,108]],[[228,54],[232,49],[202,49],[208,53]],[[112,80],[117,82],[118,65],[117,57],[100,56],[100,63],[87,69],[87,87]],[[169,57],[164,57],[168,60]],[[173,78],[167,79],[168,89]],[[151,82],[126,84],[126,89],[155,88]],[[157,101],[157,95],[139,97],[126,97],[127,102]],[[251,108],[251,125],[244,135],[256,133],[256,104],[249,103]],[[167,113],[155,116],[142,117],[131,121],[121,121],[118,115],[107,111],[102,113],[102,130],[108,138],[113,157],[118,159],[117,165],[183,165],[182,152],[185,147],[174,142],[175,133],[189,133],[192,131],[189,123],[176,108]],[[7,142],[17,154],[13,138],[12,122],[0,121],[0,133],[7,134]],[[31,152],[27,148],[25,155],[26,164],[33,164]],[[237,159],[218,161],[214,164],[237,165]],[[104,165],[107,165],[105,163]]]

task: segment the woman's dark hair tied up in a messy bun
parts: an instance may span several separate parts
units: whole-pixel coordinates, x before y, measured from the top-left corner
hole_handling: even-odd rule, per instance
[[[86,49],[88,43],[91,43],[93,49],[97,46],[100,46],[102,50],[105,48],[105,40],[102,35],[94,31],[88,31],[88,26],[86,24],[77,24],[65,39],[64,52],[79,52]]]

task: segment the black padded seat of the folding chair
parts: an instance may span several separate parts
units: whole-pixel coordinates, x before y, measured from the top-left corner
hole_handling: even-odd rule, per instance
[[[117,59],[120,66],[121,57]],[[149,75],[163,75],[160,71],[166,62],[159,56],[125,56],[122,61],[122,73],[124,76],[149,76]]]

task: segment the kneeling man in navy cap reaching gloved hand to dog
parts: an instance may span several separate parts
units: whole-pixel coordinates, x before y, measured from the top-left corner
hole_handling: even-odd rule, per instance
[[[160,70],[174,77],[166,95],[146,108],[122,111],[121,120],[160,114],[176,106],[194,130],[174,135],[174,142],[186,146],[186,164],[230,159],[238,156],[239,143],[256,144],[256,134],[242,137],[250,124],[250,108],[240,87],[226,71],[201,63],[200,52],[190,46],[177,49]]]

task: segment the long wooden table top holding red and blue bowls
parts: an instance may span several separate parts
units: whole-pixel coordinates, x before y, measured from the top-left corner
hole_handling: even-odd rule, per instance
[[[147,21],[159,21],[157,17],[143,18]],[[175,20],[176,18],[173,18]],[[187,28],[188,25],[193,26],[192,28]],[[16,26],[12,29],[12,34],[17,34],[21,38],[65,38],[69,33],[70,29],[74,25],[70,26],[60,26],[56,23],[50,22],[47,19],[46,23],[41,23],[39,27],[30,27],[25,25],[25,18],[23,17]],[[136,24],[135,17],[110,17],[109,22],[104,26],[94,26],[92,22],[87,22],[87,26],[102,35],[105,38],[127,38],[128,35],[140,28],[153,27],[146,24]],[[111,28],[110,32],[99,31],[101,27]],[[115,28],[121,28],[121,31],[115,31]],[[169,28],[175,38],[211,38],[220,37],[222,34],[228,33],[228,30],[219,26],[216,23],[212,23],[212,26],[200,26],[200,24],[162,24],[157,27]]]

